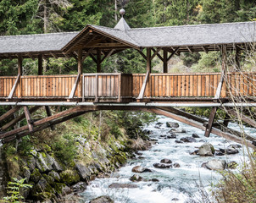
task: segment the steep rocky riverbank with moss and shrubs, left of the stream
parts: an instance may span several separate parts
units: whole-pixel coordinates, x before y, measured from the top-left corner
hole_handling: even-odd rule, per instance
[[[108,176],[134,151],[150,145],[140,129],[142,121],[133,132],[120,123],[125,118],[129,121],[127,115],[123,121],[113,119],[118,116],[118,112],[88,113],[55,126],[53,131],[47,129],[3,145],[8,167],[4,175],[8,181],[25,178],[25,184],[32,186],[19,191],[26,202],[63,202],[66,195],[71,198],[84,191],[89,181]]]

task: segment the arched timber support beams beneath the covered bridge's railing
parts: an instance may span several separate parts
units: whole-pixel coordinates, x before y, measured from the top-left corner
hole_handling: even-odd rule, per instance
[[[75,107],[71,107],[68,110],[63,112],[58,112],[57,114],[52,115],[49,106],[69,106],[75,105]],[[12,102],[6,102],[5,104],[9,104],[10,107],[13,105]],[[237,132],[236,130],[229,129],[227,127],[227,121],[224,120],[223,123],[214,123],[214,119],[211,122],[211,116],[209,120],[204,118],[199,118],[190,113],[181,111],[179,108],[174,107],[202,107],[202,103],[90,103],[90,102],[49,102],[49,103],[40,103],[40,102],[16,102],[16,105],[10,108],[10,110],[0,116],[0,122],[7,118],[12,118],[14,113],[19,111],[19,109],[23,108],[24,112],[19,115],[19,117],[14,118],[9,123],[2,125],[0,131],[0,139],[3,143],[9,142],[11,140],[19,139],[25,135],[33,134],[42,129],[51,128],[54,129],[54,125],[58,123],[65,122],[71,118],[75,118],[77,116],[81,116],[86,112],[95,112],[102,110],[122,110],[122,111],[145,111],[145,112],[153,112],[159,115],[164,115],[169,118],[173,118],[182,123],[189,124],[195,128],[202,129],[205,131],[205,135],[209,136],[209,133],[219,135],[228,140],[236,141],[237,143],[241,143],[242,145],[248,145],[249,147],[255,148],[255,139],[248,134],[242,134]],[[34,104],[34,105],[33,105]],[[139,105],[138,105],[139,104]],[[237,106],[243,106],[243,103],[235,104]],[[251,103],[250,105],[254,105]],[[41,107],[46,108],[47,117],[42,118],[40,120],[32,119],[32,113],[36,112]],[[229,114],[232,114],[236,117],[237,112],[233,110],[234,103],[208,103],[207,107],[217,108],[220,107],[225,111],[229,111]],[[248,106],[247,106],[248,107]],[[18,128],[12,129],[14,125],[21,120],[26,119],[27,124]],[[243,121],[253,125],[256,127],[256,123],[244,116],[242,118]]]

